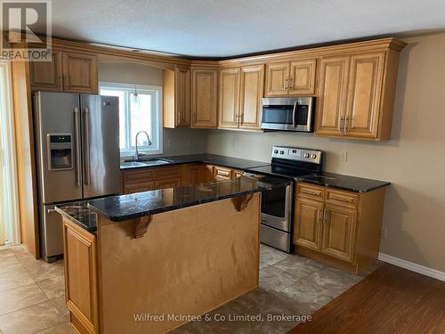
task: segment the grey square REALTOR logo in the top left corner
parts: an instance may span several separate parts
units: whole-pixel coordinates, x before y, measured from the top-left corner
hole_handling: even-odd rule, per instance
[[[52,61],[51,0],[0,0],[0,18],[1,58]]]

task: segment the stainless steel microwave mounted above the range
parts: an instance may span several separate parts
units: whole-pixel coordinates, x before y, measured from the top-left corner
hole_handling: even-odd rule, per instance
[[[261,128],[281,131],[313,131],[315,98],[272,97],[262,100],[263,118]]]

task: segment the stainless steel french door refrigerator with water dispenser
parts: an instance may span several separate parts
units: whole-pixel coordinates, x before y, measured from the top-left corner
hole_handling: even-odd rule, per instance
[[[57,203],[120,191],[118,99],[90,94],[34,95],[41,255],[63,254]]]

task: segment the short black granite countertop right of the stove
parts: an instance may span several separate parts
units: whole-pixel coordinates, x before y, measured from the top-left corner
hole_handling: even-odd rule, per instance
[[[362,177],[340,175],[335,173],[317,173],[298,176],[297,181],[321,185],[328,188],[336,188],[344,191],[368,192],[376,190],[391,183],[386,181],[372,180]]]

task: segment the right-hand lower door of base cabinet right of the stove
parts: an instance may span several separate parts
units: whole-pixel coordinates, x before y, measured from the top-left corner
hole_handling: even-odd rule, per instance
[[[354,257],[357,211],[326,205],[321,251],[352,262]]]

